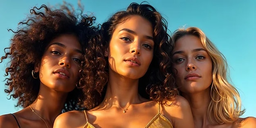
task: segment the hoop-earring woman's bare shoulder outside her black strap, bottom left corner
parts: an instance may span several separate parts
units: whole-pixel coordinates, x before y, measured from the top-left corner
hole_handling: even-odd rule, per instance
[[[11,114],[0,116],[0,128],[17,128],[18,124]]]

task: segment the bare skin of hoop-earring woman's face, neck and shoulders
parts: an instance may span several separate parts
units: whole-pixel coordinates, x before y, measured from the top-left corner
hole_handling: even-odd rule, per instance
[[[45,120],[49,128],[53,127],[54,120],[61,114],[68,92],[76,87],[81,51],[76,36],[63,34],[49,42],[42,59],[35,65],[35,72],[40,74],[40,90],[31,107]],[[29,106],[14,115],[21,128],[47,128]],[[17,128],[17,122],[11,115],[3,115],[0,120],[5,120],[0,128]]]

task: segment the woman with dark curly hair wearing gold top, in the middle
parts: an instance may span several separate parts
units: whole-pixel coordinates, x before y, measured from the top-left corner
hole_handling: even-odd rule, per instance
[[[189,103],[177,95],[170,74],[171,44],[160,13],[132,3],[100,33],[80,80],[91,110],[65,112],[54,128],[193,128]]]

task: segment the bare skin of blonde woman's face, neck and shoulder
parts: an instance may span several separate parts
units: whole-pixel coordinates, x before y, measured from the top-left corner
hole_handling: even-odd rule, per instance
[[[211,101],[212,61],[200,39],[185,35],[175,42],[172,52],[175,81],[191,106],[195,128],[254,128],[254,117],[239,118],[231,124],[214,125],[207,111]]]

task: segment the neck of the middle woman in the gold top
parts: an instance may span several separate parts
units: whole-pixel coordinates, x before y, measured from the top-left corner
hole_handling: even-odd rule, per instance
[[[108,87],[104,98],[105,106],[117,104],[125,108],[130,104],[141,103],[143,99],[138,93],[139,79],[129,79],[116,72],[109,72]]]

